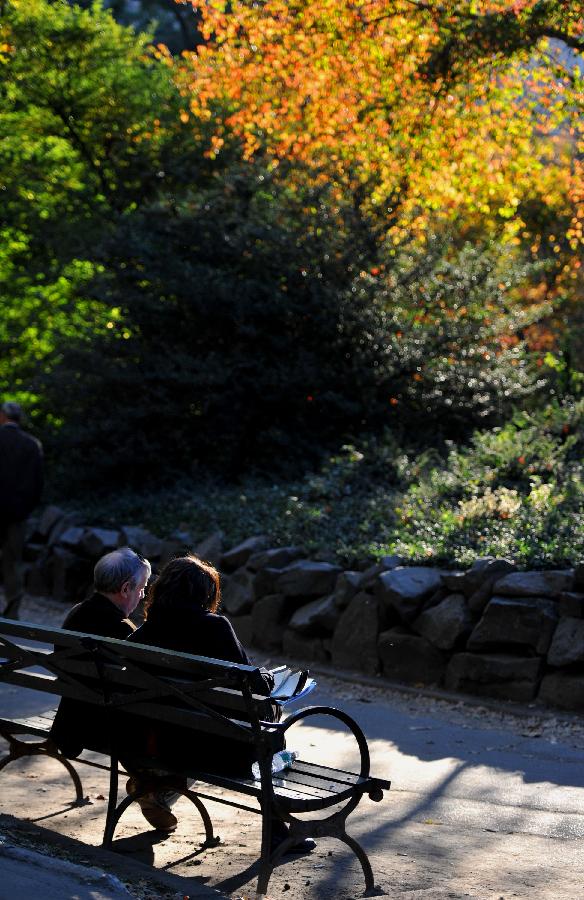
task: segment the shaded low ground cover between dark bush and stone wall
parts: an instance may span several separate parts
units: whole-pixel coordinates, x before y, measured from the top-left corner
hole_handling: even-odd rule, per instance
[[[208,472],[144,490],[85,492],[84,515],[112,527],[140,523],[159,535],[185,529],[194,543],[220,530],[226,546],[252,534],[274,545],[295,544],[321,559],[352,565],[395,523],[396,463],[400,451],[388,433],[344,445],[312,473],[298,479],[243,477],[226,482]]]

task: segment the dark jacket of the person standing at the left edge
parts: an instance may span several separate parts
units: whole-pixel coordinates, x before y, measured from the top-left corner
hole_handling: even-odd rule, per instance
[[[18,425],[0,426],[0,526],[23,522],[43,489],[43,449]]]

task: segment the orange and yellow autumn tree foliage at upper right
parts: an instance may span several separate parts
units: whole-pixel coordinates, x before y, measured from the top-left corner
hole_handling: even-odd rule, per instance
[[[367,210],[390,213],[396,243],[460,220],[521,239],[535,188],[571,208],[577,4],[214,0],[201,11],[208,43],[174,65],[195,118],[215,122],[212,154],[234,132],[248,157],[300,160],[339,191],[360,188]],[[572,249],[581,234],[576,215]]]

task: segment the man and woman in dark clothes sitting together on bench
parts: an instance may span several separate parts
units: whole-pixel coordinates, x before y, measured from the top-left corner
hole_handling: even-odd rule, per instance
[[[137,641],[153,647],[176,650],[195,656],[206,656],[227,662],[253,665],[228,619],[218,614],[221,600],[220,576],[209,563],[193,555],[178,557],[167,563],[148,589],[144,602],[144,623],[136,629],[129,616],[144,598],[151,575],[148,560],[129,547],[114,550],[102,557],[95,566],[95,593],[75,606],[66,617],[63,628],[88,632],[102,637]],[[273,676],[262,670],[267,689],[273,688]],[[281,709],[274,700],[266,698],[262,718],[277,722]],[[119,715],[119,714],[118,714]],[[116,735],[128,735],[131,752],[122,756],[130,778],[128,794],[138,794],[156,783],[160,772],[145,769],[132,762],[138,757],[152,756],[168,760],[173,766],[181,760],[194,768],[214,774],[246,776],[254,762],[253,748],[226,738],[202,734],[176,725],[160,725],[128,715],[116,719]],[[100,734],[103,732],[103,737]],[[107,726],[95,707],[78,700],[64,698],[51,736],[68,757],[78,756],[86,744],[99,745],[107,741]],[[88,735],[92,738],[88,740]],[[109,748],[104,745],[104,750]],[[137,798],[145,819],[154,828],[168,833],[174,831],[177,819],[172,804],[178,794],[160,778],[159,788],[149,790]],[[280,818],[273,821],[273,847],[287,836],[288,826]],[[309,852],[315,843],[306,838],[292,848],[293,852]]]

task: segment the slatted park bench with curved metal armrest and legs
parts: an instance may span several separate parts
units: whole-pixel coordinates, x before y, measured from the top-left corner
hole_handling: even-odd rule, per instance
[[[389,781],[370,775],[367,741],[357,723],[344,712],[326,706],[312,706],[289,715],[281,722],[261,718],[268,689],[259,668],[236,665],[206,657],[190,656],[138,643],[97,637],[80,632],[47,628],[0,618],[0,681],[21,688],[44,691],[92,704],[104,721],[111,722],[103,744],[86,747],[106,753],[104,765],[80,758],[77,762],[109,771],[109,797],[103,846],[110,847],[116,825],[140,794],[118,800],[118,781],[124,774],[120,756],[131,751],[119,744],[120,729],[116,716],[133,714],[151,721],[196,729],[209,735],[250,744],[255,748],[261,779],[235,778],[198,771],[171,768],[168,761],[152,757],[136,763],[163,769],[169,784],[187,797],[198,810],[205,829],[203,846],[219,843],[203,800],[226,803],[262,816],[262,841],[257,894],[267,892],[273,868],[282,854],[305,837],[335,837],[347,844],[357,856],[365,876],[365,889],[374,888],[369,859],[357,841],[346,832],[347,817],[367,794],[372,800],[383,798]],[[58,760],[73,780],[78,802],[83,790],[75,766],[57,749],[50,737],[55,710],[26,718],[10,717],[0,710],[0,735],[8,742],[8,754],[0,761],[0,770],[13,760],[29,755],[45,755]],[[358,772],[348,772],[297,759],[285,772],[272,775],[271,760],[281,750],[288,729],[309,716],[327,715],[339,719],[353,733],[360,752]],[[119,721],[119,718],[118,718]],[[24,736],[28,739],[23,740]],[[30,740],[30,738],[40,740]],[[123,739],[127,741],[126,738]],[[127,774],[127,773],[125,773]],[[195,779],[196,790],[184,779]],[[214,795],[205,785],[227,789]],[[203,790],[202,790],[202,789]],[[242,800],[246,802],[242,802]],[[250,805],[253,801],[255,805]],[[259,805],[257,805],[259,803]],[[334,809],[323,818],[299,818],[298,814],[321,813]],[[276,813],[289,825],[289,836],[270,852],[272,819]]]

